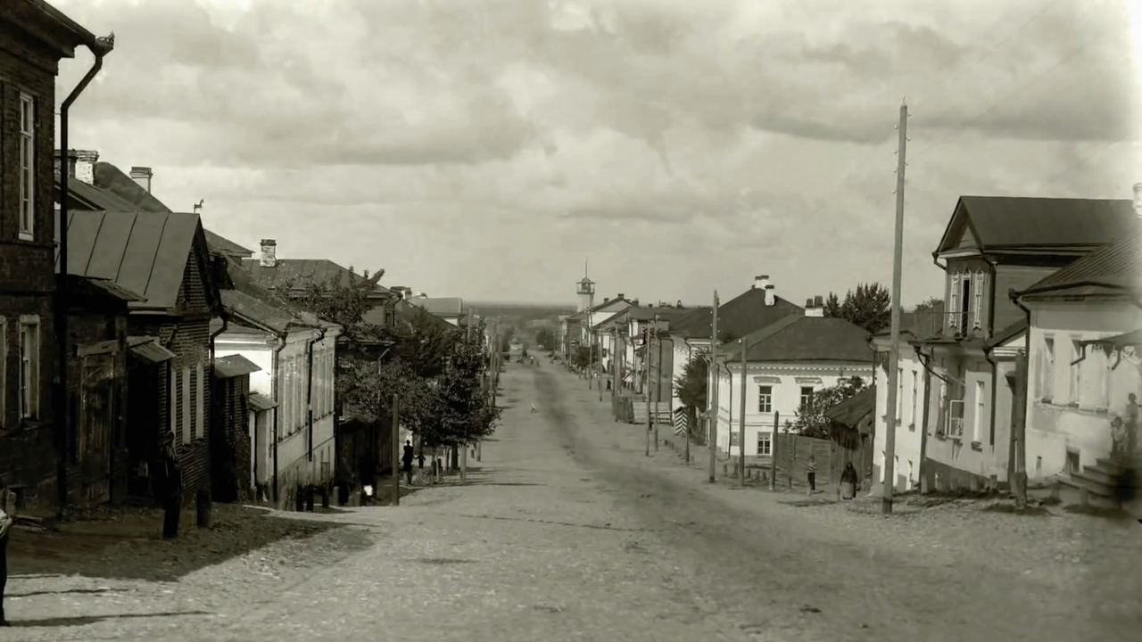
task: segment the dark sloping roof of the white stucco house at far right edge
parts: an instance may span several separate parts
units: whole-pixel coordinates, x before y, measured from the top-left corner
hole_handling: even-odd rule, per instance
[[[1020,296],[1083,296],[1142,291],[1142,236],[1134,228],[1067,267],[1046,276]]]

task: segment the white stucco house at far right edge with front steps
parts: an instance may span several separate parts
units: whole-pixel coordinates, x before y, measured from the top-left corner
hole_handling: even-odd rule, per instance
[[[1137,232],[1018,292],[1028,311],[1027,473],[1099,495],[1137,460],[1129,415],[1142,398],[1142,242]]]

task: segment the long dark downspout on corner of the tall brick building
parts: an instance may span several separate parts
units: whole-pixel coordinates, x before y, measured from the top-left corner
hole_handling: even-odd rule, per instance
[[[71,304],[70,288],[67,283],[67,170],[71,163],[67,162],[67,113],[79,95],[87,89],[87,86],[95,80],[96,74],[103,69],[103,57],[115,48],[115,37],[111,34],[106,38],[97,38],[95,45],[88,45],[95,62],[91,69],[87,70],[79,85],[71,90],[59,105],[59,279],[56,279],[56,358],[57,363],[57,396],[56,396],[56,455],[58,456],[56,470],[56,485],[59,501],[59,517],[63,519],[67,509],[67,446],[71,441],[71,399],[67,388],[67,356],[69,356],[69,331],[67,331],[67,306]]]

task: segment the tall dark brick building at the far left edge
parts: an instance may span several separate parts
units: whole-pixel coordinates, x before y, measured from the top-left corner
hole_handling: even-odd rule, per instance
[[[42,0],[0,2],[0,475],[25,505],[57,499],[53,163],[59,61],[111,41]]]

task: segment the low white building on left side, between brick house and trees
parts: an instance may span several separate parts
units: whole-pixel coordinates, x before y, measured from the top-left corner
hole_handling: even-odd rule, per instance
[[[250,374],[251,398],[257,394],[250,403],[251,484],[286,505],[298,484],[332,482],[340,327],[243,290],[222,290],[227,324],[215,353],[241,354],[260,368]]]

